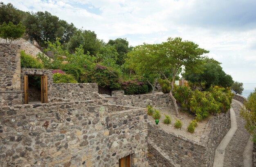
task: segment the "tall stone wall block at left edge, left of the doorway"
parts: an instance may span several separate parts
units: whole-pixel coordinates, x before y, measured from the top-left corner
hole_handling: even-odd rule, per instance
[[[0,91],[20,90],[20,46],[0,43]]]

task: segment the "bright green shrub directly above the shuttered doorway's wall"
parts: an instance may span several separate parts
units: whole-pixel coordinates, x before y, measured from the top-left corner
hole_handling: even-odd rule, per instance
[[[25,51],[20,51],[20,67],[21,68],[43,68],[43,64],[31,55],[27,55]]]

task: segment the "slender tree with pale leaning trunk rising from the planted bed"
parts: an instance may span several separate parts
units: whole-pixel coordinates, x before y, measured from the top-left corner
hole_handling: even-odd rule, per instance
[[[205,49],[198,48],[198,44],[191,41],[182,41],[182,38],[169,37],[167,42],[162,43],[162,47],[159,51],[160,56],[160,66],[158,66],[159,72],[164,76],[166,81],[171,84],[170,96],[175,107],[175,113],[179,116],[178,107],[176,99],[173,97],[173,87],[175,76],[177,71],[182,67],[195,70],[198,66],[202,64],[202,57],[204,53],[209,53]],[[172,80],[166,77],[164,72],[170,70],[172,73]]]

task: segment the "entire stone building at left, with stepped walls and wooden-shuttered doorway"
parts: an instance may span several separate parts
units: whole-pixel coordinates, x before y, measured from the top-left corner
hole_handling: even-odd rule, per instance
[[[19,49],[0,44],[1,166],[148,166],[145,108],[108,104],[96,83],[20,68]]]

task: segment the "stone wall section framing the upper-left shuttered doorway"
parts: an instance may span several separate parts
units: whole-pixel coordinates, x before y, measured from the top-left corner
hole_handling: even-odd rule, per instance
[[[22,104],[24,104],[24,75],[47,75],[47,88],[48,88],[48,99],[52,98],[52,84],[53,84],[53,73],[52,70],[36,69],[36,68],[21,68],[20,74],[20,88],[22,90]]]

